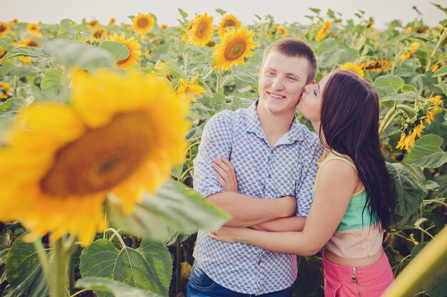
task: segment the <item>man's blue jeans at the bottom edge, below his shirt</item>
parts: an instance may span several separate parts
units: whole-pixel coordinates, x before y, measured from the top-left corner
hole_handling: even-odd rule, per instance
[[[243,280],[241,280],[243,281]],[[259,295],[259,297],[291,297],[293,293],[293,286],[286,288],[282,291],[266,293]],[[255,294],[244,294],[231,291],[228,288],[224,288],[213,281],[209,276],[204,273],[199,266],[194,265],[191,269],[189,276],[188,286],[186,287],[187,297],[204,297],[204,296],[214,296],[214,297],[254,297]]]

